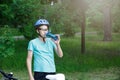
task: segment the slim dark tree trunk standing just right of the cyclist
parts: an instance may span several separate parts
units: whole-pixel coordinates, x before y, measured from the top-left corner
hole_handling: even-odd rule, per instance
[[[72,2],[73,3],[73,2]],[[78,10],[81,23],[81,53],[85,53],[85,27],[88,4],[85,0],[74,0],[74,9]]]

